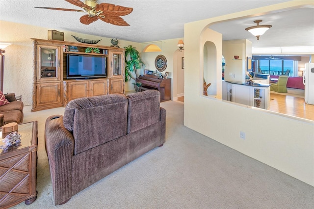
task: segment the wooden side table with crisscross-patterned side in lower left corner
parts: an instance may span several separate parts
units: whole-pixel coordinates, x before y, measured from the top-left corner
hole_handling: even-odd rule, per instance
[[[21,134],[20,145],[0,149],[1,209],[23,201],[29,205],[37,198],[37,121],[19,124],[18,132]]]

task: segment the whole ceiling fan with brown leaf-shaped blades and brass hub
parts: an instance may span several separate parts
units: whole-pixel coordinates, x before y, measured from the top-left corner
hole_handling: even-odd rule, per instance
[[[111,3],[97,3],[97,0],[84,0],[84,3],[80,0],[65,0],[76,6],[81,7],[83,10],[78,9],[65,9],[65,8],[53,8],[53,7],[35,7],[40,9],[52,9],[72,12],[87,12],[79,18],[79,22],[85,25],[89,25],[96,20],[100,19],[106,23],[116,26],[130,26],[120,16],[128,15],[133,11],[131,7],[119,6]]]

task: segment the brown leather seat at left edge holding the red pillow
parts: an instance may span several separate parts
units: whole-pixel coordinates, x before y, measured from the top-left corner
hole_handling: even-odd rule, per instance
[[[14,93],[4,96],[10,103],[0,106],[0,127],[12,122],[23,123],[23,102],[17,101]]]

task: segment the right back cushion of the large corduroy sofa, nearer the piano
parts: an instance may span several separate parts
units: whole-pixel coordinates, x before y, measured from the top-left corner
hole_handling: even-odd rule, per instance
[[[128,98],[128,133],[143,129],[159,121],[160,92],[146,90]]]

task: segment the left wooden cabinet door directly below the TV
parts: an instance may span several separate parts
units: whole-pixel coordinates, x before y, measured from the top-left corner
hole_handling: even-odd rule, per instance
[[[68,102],[82,97],[89,97],[89,81],[68,82]]]

